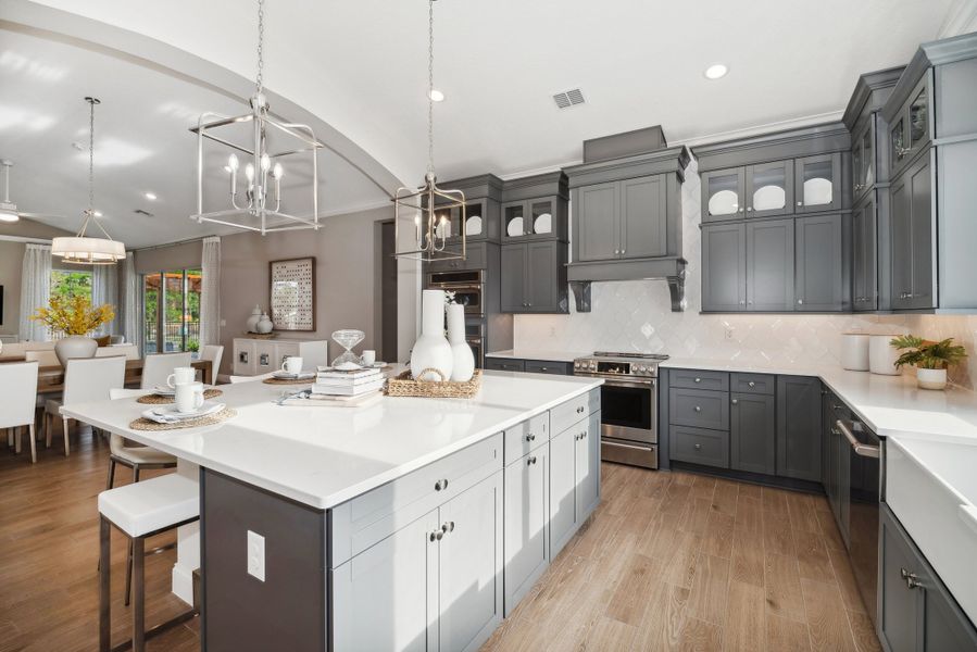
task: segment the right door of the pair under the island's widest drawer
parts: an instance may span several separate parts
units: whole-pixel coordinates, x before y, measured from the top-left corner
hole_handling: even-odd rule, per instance
[[[502,623],[502,472],[441,505],[440,522],[439,649],[478,650]]]

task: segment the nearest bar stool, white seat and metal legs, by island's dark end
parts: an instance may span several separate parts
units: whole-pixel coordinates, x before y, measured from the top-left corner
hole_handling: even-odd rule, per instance
[[[99,493],[99,651],[128,648],[125,642],[111,647],[111,529],[114,525],[133,546],[133,640],[135,652],[146,650],[146,640],[196,615],[189,611],[146,631],[146,539],[192,523],[200,517],[200,490],[197,482],[179,474],[170,474],[117,487]]]

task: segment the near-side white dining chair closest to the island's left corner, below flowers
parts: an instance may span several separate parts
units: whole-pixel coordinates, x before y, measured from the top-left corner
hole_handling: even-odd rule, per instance
[[[51,448],[51,435],[54,429],[54,417],[61,415],[62,405],[85,403],[87,401],[105,401],[109,390],[125,385],[125,355],[114,358],[76,358],[67,361],[64,369],[64,392],[61,400],[48,399],[45,402],[45,441]],[[61,415],[64,432],[64,455],[71,452],[67,441],[68,422]]]

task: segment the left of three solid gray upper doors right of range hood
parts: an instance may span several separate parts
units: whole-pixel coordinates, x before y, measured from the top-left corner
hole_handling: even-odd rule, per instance
[[[747,229],[743,224],[702,227],[702,311],[747,308]]]

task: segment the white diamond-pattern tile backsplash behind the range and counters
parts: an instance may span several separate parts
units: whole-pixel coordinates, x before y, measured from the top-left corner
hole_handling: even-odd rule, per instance
[[[953,337],[977,349],[977,316],[943,315],[703,315],[700,288],[700,192],[697,164],[682,185],[682,249],[688,261],[685,312],[672,312],[664,280],[594,283],[591,312],[516,315],[517,350],[644,351],[675,356],[762,362],[838,362],[841,334],[915,333],[929,339]],[[951,371],[957,385],[972,387],[977,359]]]

